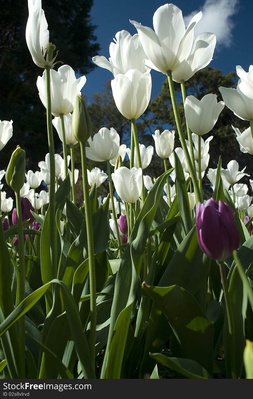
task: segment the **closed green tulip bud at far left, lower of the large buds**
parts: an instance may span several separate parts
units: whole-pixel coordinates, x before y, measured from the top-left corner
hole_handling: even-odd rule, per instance
[[[15,192],[22,189],[25,182],[25,151],[20,146],[12,153],[5,174],[5,180]]]

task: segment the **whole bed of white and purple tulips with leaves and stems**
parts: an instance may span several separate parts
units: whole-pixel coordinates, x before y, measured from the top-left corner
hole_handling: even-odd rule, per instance
[[[214,34],[194,35],[202,13],[185,27],[181,10],[165,4],[153,29],[131,20],[137,34],[116,33],[109,60],[92,59],[101,74],[112,72],[116,107],[131,121],[127,148],[112,126],[94,134],[80,93],[86,77],[57,64],[42,6],[28,0],[26,41],[47,110],[48,154],[27,170],[20,142],[0,170],[0,377],[253,378],[253,180],[222,156],[208,168],[224,107],[249,121],[243,132],[233,126],[233,137],[238,152],[253,155],[253,66],[236,67],[237,88],[219,88],[224,101],[212,93],[199,101],[184,82],[214,53]],[[153,132],[164,167],[156,178],[145,174],[154,147],[139,142],[136,123],[150,101],[151,69],[168,79],[176,121],[175,130]],[[12,120],[0,121],[1,151],[13,134]],[[97,166],[88,170],[87,159]],[[205,174],[212,198],[203,196]]]

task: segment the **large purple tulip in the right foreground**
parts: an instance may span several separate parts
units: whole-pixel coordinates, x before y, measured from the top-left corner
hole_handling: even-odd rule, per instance
[[[198,244],[212,259],[223,261],[239,247],[239,230],[234,221],[234,212],[226,202],[214,198],[206,205],[199,202],[196,209]]]

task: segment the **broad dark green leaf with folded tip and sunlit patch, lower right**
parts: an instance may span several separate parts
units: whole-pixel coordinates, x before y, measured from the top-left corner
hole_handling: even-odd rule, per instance
[[[143,282],[142,286],[173,329],[177,338],[173,355],[196,361],[212,375],[214,324],[206,318],[196,299],[177,285],[155,287]]]

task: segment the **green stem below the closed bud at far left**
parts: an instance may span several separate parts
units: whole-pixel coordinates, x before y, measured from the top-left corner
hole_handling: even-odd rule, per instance
[[[22,224],[22,209],[20,201],[20,192],[16,192],[16,207],[18,221],[18,253],[20,264],[20,286],[19,286],[19,303],[25,299],[25,254],[24,254],[24,232]],[[20,378],[25,378],[25,316],[19,320],[18,328],[18,345],[19,345],[19,363]]]

